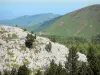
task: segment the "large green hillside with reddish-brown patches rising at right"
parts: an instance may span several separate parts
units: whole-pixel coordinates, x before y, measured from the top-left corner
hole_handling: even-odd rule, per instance
[[[61,36],[95,36],[100,34],[100,5],[68,13],[44,30]]]

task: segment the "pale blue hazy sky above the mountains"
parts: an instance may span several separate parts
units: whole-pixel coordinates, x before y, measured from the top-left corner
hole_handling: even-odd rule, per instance
[[[100,0],[0,0],[0,18],[41,13],[64,15],[93,4],[100,4]]]

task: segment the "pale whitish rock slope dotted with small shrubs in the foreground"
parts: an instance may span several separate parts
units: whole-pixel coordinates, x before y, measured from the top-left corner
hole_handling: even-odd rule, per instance
[[[26,64],[30,69],[46,68],[52,59],[64,65],[69,50],[64,45],[53,43],[47,38],[37,36],[33,48],[25,46],[28,31],[18,27],[0,26],[0,70],[18,68]],[[34,34],[32,34],[34,36]],[[49,52],[46,46],[49,45]],[[84,54],[77,53],[78,60],[86,62]]]

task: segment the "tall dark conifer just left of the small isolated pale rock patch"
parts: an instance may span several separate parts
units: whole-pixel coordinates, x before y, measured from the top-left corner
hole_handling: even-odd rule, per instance
[[[68,61],[65,63],[65,67],[69,75],[77,75],[77,59],[78,55],[76,47],[71,47],[68,54]]]

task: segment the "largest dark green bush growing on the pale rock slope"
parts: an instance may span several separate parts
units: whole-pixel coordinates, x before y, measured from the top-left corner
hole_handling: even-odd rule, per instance
[[[26,41],[25,41],[25,45],[28,48],[32,48],[33,46],[33,42],[35,41],[35,38],[32,34],[27,34],[26,36]]]

